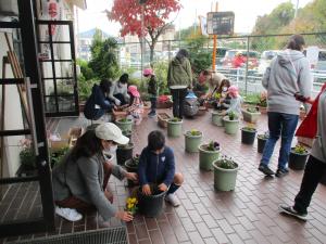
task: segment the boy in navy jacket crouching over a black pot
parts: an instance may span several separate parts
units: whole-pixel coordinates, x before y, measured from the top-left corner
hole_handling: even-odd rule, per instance
[[[165,145],[165,137],[154,130],[148,136],[148,145],[139,158],[138,178],[142,193],[151,195],[150,183],[158,183],[160,191],[167,191],[165,201],[174,207],[179,206],[175,192],[184,182],[184,176],[175,172],[174,153]]]

